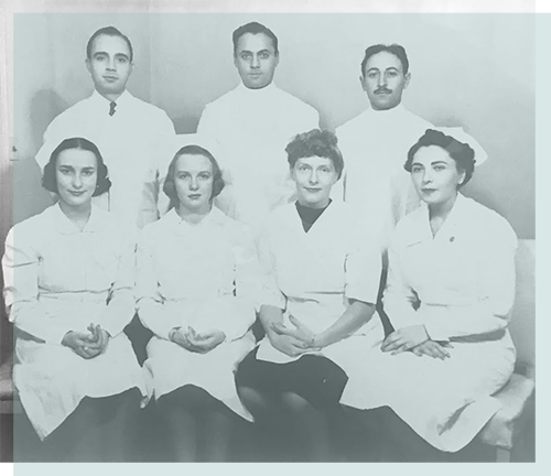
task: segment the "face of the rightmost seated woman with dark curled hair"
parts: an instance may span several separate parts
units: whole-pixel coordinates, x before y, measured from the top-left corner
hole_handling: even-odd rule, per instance
[[[411,178],[417,193],[429,205],[455,199],[457,187],[465,180],[455,161],[439,145],[422,147],[413,155]]]

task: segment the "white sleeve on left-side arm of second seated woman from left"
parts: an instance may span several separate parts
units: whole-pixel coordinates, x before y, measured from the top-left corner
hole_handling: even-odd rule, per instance
[[[180,321],[164,307],[164,299],[159,290],[155,267],[153,263],[153,244],[141,231],[137,250],[136,299],[138,314],[142,324],[160,338],[170,340],[169,334],[180,326]]]

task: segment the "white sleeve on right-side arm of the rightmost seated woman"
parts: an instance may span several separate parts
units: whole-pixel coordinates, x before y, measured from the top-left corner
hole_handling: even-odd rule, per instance
[[[472,337],[500,332],[509,324],[515,302],[515,253],[517,237],[508,224],[476,253],[478,303],[472,306],[421,306],[428,334],[433,340]],[[505,229],[506,228],[506,229]]]

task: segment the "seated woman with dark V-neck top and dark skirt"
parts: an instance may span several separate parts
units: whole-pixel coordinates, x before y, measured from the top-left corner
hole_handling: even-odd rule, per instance
[[[336,137],[314,129],[285,150],[298,202],[274,210],[260,237],[266,338],[237,385],[258,423],[280,430],[301,461],[327,461],[329,416],[383,336],[375,312],[381,260],[352,209],[329,198],[344,167]]]

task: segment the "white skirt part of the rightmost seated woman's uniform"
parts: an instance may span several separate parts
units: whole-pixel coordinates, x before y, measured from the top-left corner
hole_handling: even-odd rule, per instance
[[[457,452],[500,408],[491,394],[512,374],[516,353],[509,342],[452,343],[445,360],[378,349],[366,360],[363,379],[349,383],[348,404],[388,405],[428,443]],[[361,380],[364,392],[354,389]]]

